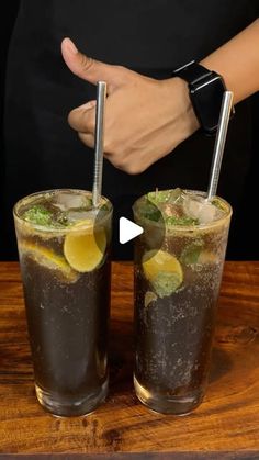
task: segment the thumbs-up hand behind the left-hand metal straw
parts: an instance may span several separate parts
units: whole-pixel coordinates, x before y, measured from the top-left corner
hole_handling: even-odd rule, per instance
[[[108,83],[104,156],[116,168],[132,175],[143,172],[199,127],[187,83],[180,78],[155,80],[93,60],[69,38],[63,41],[61,52],[78,77]],[[86,145],[94,147],[95,101],[72,110],[68,122]]]

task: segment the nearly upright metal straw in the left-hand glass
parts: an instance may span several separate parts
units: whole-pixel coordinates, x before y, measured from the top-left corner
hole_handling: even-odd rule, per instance
[[[106,99],[105,81],[97,83],[97,115],[94,134],[94,167],[92,186],[92,204],[98,207],[102,195],[102,167],[103,167],[103,123]]]

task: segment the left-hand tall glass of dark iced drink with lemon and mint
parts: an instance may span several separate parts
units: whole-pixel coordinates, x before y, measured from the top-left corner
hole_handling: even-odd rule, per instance
[[[14,206],[35,389],[60,416],[85,415],[108,393],[112,204],[50,190]]]

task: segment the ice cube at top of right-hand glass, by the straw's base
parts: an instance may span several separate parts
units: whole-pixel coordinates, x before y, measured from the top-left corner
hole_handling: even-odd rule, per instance
[[[199,224],[210,224],[215,221],[216,207],[202,197],[185,194],[183,211],[188,217],[196,218]]]

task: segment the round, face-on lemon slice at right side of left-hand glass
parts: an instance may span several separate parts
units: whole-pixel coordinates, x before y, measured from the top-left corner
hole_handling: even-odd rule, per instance
[[[102,261],[106,247],[104,228],[93,232],[92,221],[83,221],[72,226],[64,243],[64,255],[68,263],[85,273],[94,270]]]

